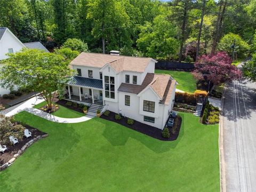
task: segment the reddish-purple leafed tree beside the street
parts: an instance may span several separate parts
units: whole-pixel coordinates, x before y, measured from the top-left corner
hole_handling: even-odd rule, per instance
[[[231,65],[231,58],[226,52],[217,52],[214,55],[202,55],[195,63],[194,77],[199,81],[207,79],[212,83],[210,93],[216,85],[227,82],[229,79],[241,76],[241,71]]]

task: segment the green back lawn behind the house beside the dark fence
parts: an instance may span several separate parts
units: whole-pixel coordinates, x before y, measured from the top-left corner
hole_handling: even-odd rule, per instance
[[[177,85],[176,88],[179,90],[190,93],[194,93],[196,91],[196,79],[190,72],[156,69],[155,73],[171,75],[178,81],[179,85]]]

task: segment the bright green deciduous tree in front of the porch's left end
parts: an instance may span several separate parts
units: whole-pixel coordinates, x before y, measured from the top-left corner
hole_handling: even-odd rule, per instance
[[[40,92],[50,110],[55,95],[63,92],[63,87],[72,75],[69,62],[61,55],[36,49],[23,49],[9,54],[9,58],[3,62],[4,66],[0,71],[1,85],[10,89],[14,85],[21,89],[30,87],[31,90]]]

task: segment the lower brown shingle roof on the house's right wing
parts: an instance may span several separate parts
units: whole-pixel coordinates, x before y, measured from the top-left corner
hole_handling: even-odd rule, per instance
[[[161,103],[167,105],[171,99],[175,82],[170,75],[147,73],[141,85],[122,83],[118,91],[139,94],[147,86],[150,86],[161,98]]]

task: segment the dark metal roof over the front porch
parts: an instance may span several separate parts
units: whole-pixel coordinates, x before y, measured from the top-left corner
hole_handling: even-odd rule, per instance
[[[102,80],[100,79],[74,76],[74,77],[71,77],[71,80],[69,81],[68,84],[103,89]]]

